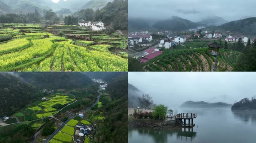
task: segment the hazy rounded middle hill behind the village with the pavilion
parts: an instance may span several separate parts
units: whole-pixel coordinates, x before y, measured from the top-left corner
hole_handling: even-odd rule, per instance
[[[177,16],[173,16],[171,19],[160,20],[153,24],[153,28],[158,30],[170,30],[170,31],[180,31],[190,28],[196,28],[199,26],[198,23],[192,22],[187,19],[179,18]]]

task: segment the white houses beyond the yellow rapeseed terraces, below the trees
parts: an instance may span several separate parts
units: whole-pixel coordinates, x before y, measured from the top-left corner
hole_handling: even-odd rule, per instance
[[[104,23],[101,21],[91,22],[91,21],[82,20],[82,21],[79,21],[78,24],[83,27],[90,27],[92,31],[103,31],[103,29],[106,29],[104,27]]]

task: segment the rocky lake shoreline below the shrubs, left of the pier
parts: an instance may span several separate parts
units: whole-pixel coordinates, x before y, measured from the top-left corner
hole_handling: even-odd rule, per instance
[[[169,128],[180,127],[176,121],[169,121],[168,124],[165,124],[161,120],[153,119],[132,119],[128,121],[128,127],[139,127],[139,128],[149,128],[153,130],[165,130]]]

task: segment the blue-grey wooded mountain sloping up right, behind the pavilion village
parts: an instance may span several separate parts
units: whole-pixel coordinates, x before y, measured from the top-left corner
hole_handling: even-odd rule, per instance
[[[231,21],[217,26],[216,28],[238,32],[244,35],[256,35],[256,17]]]

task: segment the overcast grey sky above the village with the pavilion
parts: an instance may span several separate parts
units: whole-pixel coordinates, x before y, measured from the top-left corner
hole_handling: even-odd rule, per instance
[[[193,22],[207,16],[232,21],[255,17],[255,0],[128,0],[129,18],[179,16]]]

